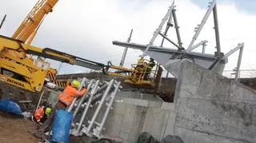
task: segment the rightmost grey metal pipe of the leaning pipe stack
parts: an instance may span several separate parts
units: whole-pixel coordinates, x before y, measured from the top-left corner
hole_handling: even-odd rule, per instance
[[[114,102],[114,97],[115,97],[115,95],[118,93],[118,88],[119,88],[120,85],[121,85],[121,82],[119,81],[118,84],[116,85],[115,89],[114,89],[114,92],[111,94],[111,97],[112,97],[112,98],[111,98],[111,100],[110,100],[110,102],[109,102],[109,105],[108,105],[107,108],[106,108],[106,112],[104,113],[104,116],[103,116],[103,118],[102,118],[102,123],[101,123],[101,125],[100,125],[99,128],[98,128],[98,131],[99,131],[99,132],[101,132],[102,129],[103,129],[103,126],[104,126],[104,124],[105,124],[105,122],[106,122],[106,118],[107,118],[107,116],[109,115],[111,106],[112,106],[112,104],[113,104],[113,102]]]

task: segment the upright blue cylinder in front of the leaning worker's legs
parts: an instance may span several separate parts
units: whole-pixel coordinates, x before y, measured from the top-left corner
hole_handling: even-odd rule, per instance
[[[68,143],[70,137],[70,126],[73,114],[64,109],[58,109],[54,117],[51,141]]]

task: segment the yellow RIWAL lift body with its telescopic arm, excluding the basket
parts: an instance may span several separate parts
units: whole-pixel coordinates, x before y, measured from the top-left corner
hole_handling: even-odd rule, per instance
[[[10,54],[16,52],[19,56]],[[84,66],[94,70],[103,70],[104,64],[92,62],[84,58],[62,53],[50,48],[42,49],[36,46],[24,44],[16,39],[7,38],[0,35],[0,79],[11,85],[16,85],[22,89],[30,91],[41,91],[45,81],[46,73],[50,66],[45,63],[35,64],[26,56],[34,54],[43,58],[50,58],[71,65]]]

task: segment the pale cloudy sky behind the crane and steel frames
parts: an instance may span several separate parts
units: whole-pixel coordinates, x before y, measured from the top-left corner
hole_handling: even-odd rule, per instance
[[[11,36],[30,12],[37,0],[0,1],[0,19],[7,14],[0,34]],[[61,50],[95,62],[111,61],[118,65],[122,47],[113,46],[112,41],[125,42],[134,29],[131,42],[147,44],[154,30],[166,14],[170,0],[62,0],[47,15],[42,23],[33,46]],[[208,0],[176,0],[178,24],[183,46],[187,47],[197,26],[207,10]],[[256,2],[254,0],[218,0],[218,21],[222,52],[226,53],[240,42],[245,42],[242,69],[256,69]],[[212,14],[197,39],[207,40],[206,53],[213,54],[214,23]],[[175,32],[169,31],[169,38],[175,42]],[[154,43],[159,46],[158,42]],[[197,43],[195,42],[195,43]],[[170,44],[164,45],[173,48]],[[200,50],[200,49],[198,49]],[[136,62],[138,50],[129,50],[125,65]],[[237,63],[238,52],[229,58],[226,70],[232,70]],[[58,68],[59,62],[53,62]],[[84,72],[84,68],[64,65],[61,73]]]

